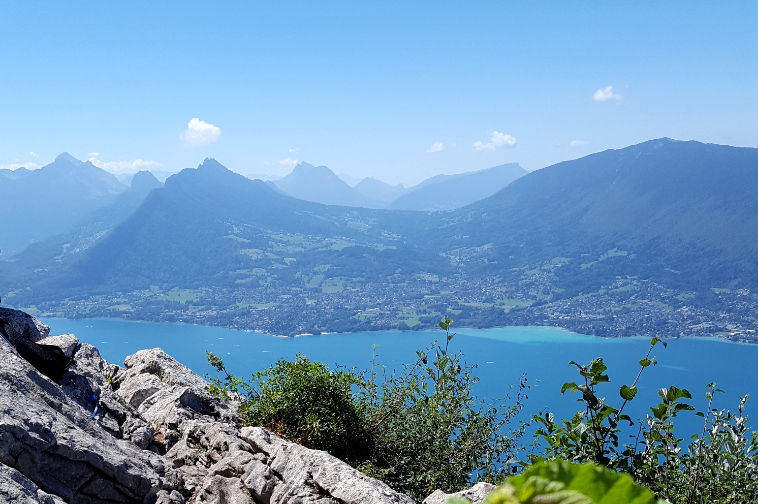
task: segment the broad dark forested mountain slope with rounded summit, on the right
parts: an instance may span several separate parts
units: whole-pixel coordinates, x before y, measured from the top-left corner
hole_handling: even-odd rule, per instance
[[[435,246],[490,244],[472,274],[564,256],[576,261],[563,274],[578,279],[618,265],[604,274],[758,286],[756,190],[758,149],[650,140],[534,171],[445,214]]]

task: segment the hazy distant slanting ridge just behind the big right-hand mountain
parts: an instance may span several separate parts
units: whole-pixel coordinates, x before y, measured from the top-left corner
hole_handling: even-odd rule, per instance
[[[460,208],[492,196],[526,174],[528,171],[518,163],[509,163],[467,174],[437,175],[410,187],[387,208],[424,211]]]

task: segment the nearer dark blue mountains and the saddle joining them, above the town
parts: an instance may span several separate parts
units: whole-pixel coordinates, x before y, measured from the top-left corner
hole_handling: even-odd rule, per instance
[[[671,139],[555,164],[444,212],[308,202],[206,159],[80,253],[30,247],[0,263],[0,276],[18,302],[152,285],[308,290],[317,277],[513,282],[540,261],[562,265],[539,271],[565,296],[617,277],[754,289],[756,188],[758,149]]]

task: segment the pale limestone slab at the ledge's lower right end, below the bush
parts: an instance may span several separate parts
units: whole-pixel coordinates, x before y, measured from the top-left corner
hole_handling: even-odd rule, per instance
[[[250,485],[250,493],[260,496],[266,504],[413,504],[409,496],[397,493],[327,452],[290,443],[263,427],[245,427],[240,438],[256,453],[266,456],[265,464],[249,465],[244,480]]]

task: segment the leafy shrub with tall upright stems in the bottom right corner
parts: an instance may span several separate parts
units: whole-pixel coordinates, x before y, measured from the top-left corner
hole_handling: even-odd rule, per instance
[[[577,365],[584,383],[564,383],[562,392],[581,393],[584,411],[576,412],[561,425],[544,412],[534,420],[540,424],[535,436],[531,462],[564,459],[572,462],[597,462],[615,471],[625,472],[650,487],[656,496],[669,502],[758,502],[758,433],[750,431],[744,408],[748,396],[740,398],[738,412],[712,409],[713,398],[722,390],[709,383],[706,399],[708,411],[696,412],[703,418],[703,430],[694,434],[684,450],[684,440],[675,434],[675,419],[681,412],[694,411],[684,402],[692,399],[686,389],[671,386],[658,391],[661,399],[650,407],[652,415],[639,421],[632,443],[619,445],[620,422],[634,421],[623,414],[625,405],[637,394],[637,380],[645,368],[656,365],[650,351],[658,338],[650,341],[650,350],[640,361],[640,371],[631,386],[619,388],[621,405],[614,407],[598,396],[597,387],[610,378],[602,358],[589,365]],[[664,345],[666,343],[663,343]]]

